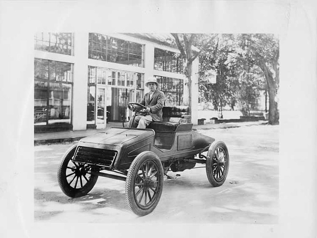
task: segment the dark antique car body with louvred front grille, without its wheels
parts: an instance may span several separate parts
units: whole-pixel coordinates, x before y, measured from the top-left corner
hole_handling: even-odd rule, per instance
[[[180,124],[175,131],[111,128],[81,139],[73,160],[120,171],[128,169],[143,151],[154,152],[161,162],[191,159],[215,141],[191,130],[192,126]]]

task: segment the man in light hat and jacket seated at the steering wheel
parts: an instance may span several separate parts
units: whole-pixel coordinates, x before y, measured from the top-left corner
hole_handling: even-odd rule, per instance
[[[150,92],[145,93],[141,105],[145,106],[144,115],[137,115],[129,120],[127,127],[129,128],[146,128],[150,122],[162,121],[162,108],[164,107],[165,94],[158,90],[158,82],[155,77],[148,78],[145,86]]]

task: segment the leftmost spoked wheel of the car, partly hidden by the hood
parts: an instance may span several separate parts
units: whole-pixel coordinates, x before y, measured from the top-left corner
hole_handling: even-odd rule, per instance
[[[57,172],[59,187],[65,195],[77,198],[86,195],[97,183],[98,176],[87,173],[89,165],[72,161],[76,145],[62,157]]]

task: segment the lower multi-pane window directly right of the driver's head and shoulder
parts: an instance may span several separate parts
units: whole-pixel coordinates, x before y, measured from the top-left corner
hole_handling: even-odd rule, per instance
[[[159,90],[165,93],[165,106],[182,106],[183,79],[156,76]]]

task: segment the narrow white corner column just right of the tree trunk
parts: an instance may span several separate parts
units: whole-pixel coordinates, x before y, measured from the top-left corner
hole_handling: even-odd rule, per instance
[[[199,60],[198,57],[192,63],[192,95],[190,96],[190,100],[192,102],[192,123],[194,125],[198,124],[198,79],[199,79]]]

